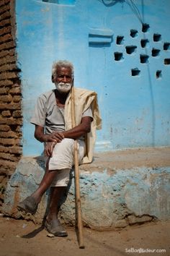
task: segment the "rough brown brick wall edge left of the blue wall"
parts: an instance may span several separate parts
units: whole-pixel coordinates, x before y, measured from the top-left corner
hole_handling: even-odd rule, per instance
[[[0,1],[0,207],[22,154],[22,94],[15,46],[14,0]]]

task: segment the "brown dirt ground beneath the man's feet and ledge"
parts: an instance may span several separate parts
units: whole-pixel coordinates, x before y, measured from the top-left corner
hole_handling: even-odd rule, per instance
[[[84,229],[85,249],[79,249],[73,227],[67,228],[67,237],[50,238],[47,231],[31,221],[1,217],[0,226],[1,256],[170,256],[170,221],[130,226],[119,231]],[[153,249],[158,252],[146,252]]]

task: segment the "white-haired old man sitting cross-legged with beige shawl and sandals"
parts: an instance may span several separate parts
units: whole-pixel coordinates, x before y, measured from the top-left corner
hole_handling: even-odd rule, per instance
[[[17,205],[18,210],[35,214],[42,195],[50,187],[50,204],[45,228],[55,236],[67,236],[66,229],[58,220],[58,210],[74,164],[74,140],[78,141],[79,163],[90,163],[93,156],[95,129],[101,128],[97,93],[74,88],[73,74],[71,62],[55,62],[52,69],[55,90],[43,93],[37,99],[31,123],[35,124],[35,138],[45,143],[46,169],[37,190]],[[71,97],[73,93],[74,97]],[[71,119],[73,99],[75,127]]]

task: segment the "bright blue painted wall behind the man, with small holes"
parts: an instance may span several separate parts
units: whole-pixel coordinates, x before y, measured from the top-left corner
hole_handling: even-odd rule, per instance
[[[16,0],[24,155],[42,153],[30,116],[37,96],[54,88],[56,59],[72,61],[75,85],[99,95],[96,150],[170,145],[170,1],[133,2]]]

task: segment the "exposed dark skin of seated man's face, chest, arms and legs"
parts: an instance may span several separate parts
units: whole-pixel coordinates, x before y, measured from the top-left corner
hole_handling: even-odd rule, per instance
[[[65,82],[65,83],[72,83],[73,85],[73,78],[71,75],[71,69],[66,67],[58,68],[57,75],[54,79],[52,77],[52,82]],[[56,103],[60,107],[64,107],[66,103],[66,98],[68,93],[60,93],[58,90],[55,90],[55,98]],[[77,139],[83,135],[86,135],[87,132],[90,132],[91,129],[91,117],[86,116],[81,119],[81,124],[74,127],[73,129],[69,129],[66,132],[53,132],[50,135],[44,134],[44,127],[40,127],[38,125],[35,126],[35,138],[40,142],[46,142],[45,146],[45,155],[50,156],[53,153],[53,148],[55,147],[56,143],[60,143],[64,138],[71,138]],[[48,161],[49,161],[48,159]],[[42,195],[45,191],[50,187],[50,184],[53,182],[55,178],[56,171],[50,171],[48,169],[48,162],[46,166],[45,174],[42,178],[40,186],[37,190],[32,194],[32,197],[35,198],[37,202],[40,202]],[[63,196],[66,187],[52,187],[50,188],[50,208],[48,212],[48,216],[46,219],[48,221],[52,221],[54,226],[57,226],[58,220],[58,202],[60,198]]]

